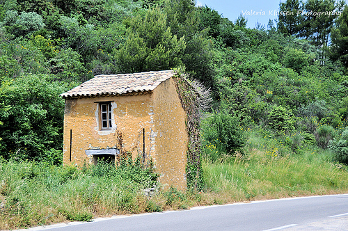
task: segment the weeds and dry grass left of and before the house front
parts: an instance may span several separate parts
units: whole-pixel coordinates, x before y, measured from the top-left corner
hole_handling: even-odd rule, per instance
[[[113,166],[108,174],[100,175],[96,169],[105,166],[80,170],[76,166],[0,159],[0,229],[66,220],[90,221],[95,214],[102,216],[163,209],[166,196],[160,196],[160,200],[164,201],[160,203],[156,200],[158,192],[153,196],[155,199],[143,195],[146,186],[157,184],[158,175],[153,172],[152,166],[143,168],[132,160],[125,160],[124,164]],[[138,174],[142,178],[136,180],[134,175]],[[180,197],[183,195],[176,189],[172,191]],[[173,198],[171,206],[178,202]]]

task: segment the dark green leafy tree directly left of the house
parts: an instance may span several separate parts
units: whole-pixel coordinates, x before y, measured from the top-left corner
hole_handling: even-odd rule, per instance
[[[64,102],[58,95],[69,86],[52,80],[29,75],[2,83],[0,102],[9,107],[0,118],[4,158],[61,163]]]

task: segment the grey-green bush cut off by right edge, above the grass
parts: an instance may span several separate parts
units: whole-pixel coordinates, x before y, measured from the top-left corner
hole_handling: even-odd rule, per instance
[[[342,164],[348,164],[348,127],[338,138],[329,142],[329,148],[333,151],[335,161]]]

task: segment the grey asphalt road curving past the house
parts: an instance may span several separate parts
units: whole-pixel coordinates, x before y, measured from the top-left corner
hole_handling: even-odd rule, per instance
[[[348,230],[348,194],[97,218],[31,230]]]

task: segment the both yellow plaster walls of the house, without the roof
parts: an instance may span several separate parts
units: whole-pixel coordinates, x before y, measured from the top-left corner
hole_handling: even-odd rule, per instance
[[[111,102],[111,130],[100,131],[98,102]],[[159,181],[186,189],[188,138],[185,119],[173,79],[162,82],[153,93],[144,95],[65,99],[63,164],[93,164],[93,157],[88,157],[85,150],[120,148],[119,132],[123,150],[136,157],[143,153],[145,128],[145,154],[153,159],[160,174]]]

